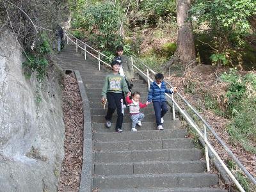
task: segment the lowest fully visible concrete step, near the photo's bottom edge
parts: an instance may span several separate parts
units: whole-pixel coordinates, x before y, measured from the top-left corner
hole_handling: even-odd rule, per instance
[[[148,175],[116,175],[93,177],[94,187],[127,188],[200,188],[218,184],[218,175],[207,173],[177,173]]]

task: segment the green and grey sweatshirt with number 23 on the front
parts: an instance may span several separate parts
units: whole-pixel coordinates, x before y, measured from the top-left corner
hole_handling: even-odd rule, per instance
[[[102,97],[106,98],[106,94],[108,92],[114,93],[127,93],[129,92],[127,83],[124,80],[124,77],[120,76],[120,74],[114,75],[109,74],[106,76],[103,88],[102,88]]]

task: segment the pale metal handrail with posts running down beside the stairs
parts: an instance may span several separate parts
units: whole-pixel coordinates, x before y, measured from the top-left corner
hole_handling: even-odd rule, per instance
[[[96,49],[93,49],[92,47],[90,47],[90,45],[85,44],[84,42],[82,42],[81,40],[78,40],[74,35],[70,34],[71,36],[73,36],[73,38],[76,39],[76,42],[74,42],[71,38],[68,37],[67,31],[65,31],[64,33],[64,39],[67,37],[67,43],[68,40],[72,41],[74,44],[76,44],[76,51],[77,51],[77,47],[81,48],[82,50],[84,50],[84,54],[86,54],[86,52],[88,54],[90,54],[91,56],[93,56],[94,58],[96,58],[97,60],[99,60],[99,70],[100,70],[100,61],[102,63],[104,63],[105,65],[108,65],[110,67],[110,65],[108,63],[106,63],[105,61],[100,60],[100,55],[109,58],[108,56],[106,56],[105,54],[102,54],[101,52],[97,51]],[[81,47],[80,45],[78,45],[77,41],[81,42],[82,44],[84,44],[84,48]],[[97,58],[97,56],[94,56],[92,53],[88,52],[86,50],[86,46],[90,47],[90,49],[92,49],[93,51],[97,52],[99,57]],[[86,60],[86,55],[84,55],[84,58]],[[111,59],[111,58],[109,58]],[[131,60],[133,61],[133,59],[139,61],[137,58],[135,58],[134,56],[131,57]],[[140,70],[140,68],[136,67],[136,65],[134,65],[134,63],[132,62],[132,67],[136,68],[136,70],[138,70],[143,76],[145,76],[148,79],[148,83],[149,82],[153,82],[153,80],[149,77],[148,71],[152,72],[152,74],[156,74],[156,72],[154,72],[154,70],[152,70],[151,68],[149,68],[147,65],[145,65],[144,63],[142,63],[140,61],[140,63],[147,68],[147,74],[145,74],[142,70]],[[165,81],[166,82],[166,81]],[[166,82],[168,85],[170,85],[172,87],[172,84]],[[189,108],[192,109],[192,111],[196,114],[196,116],[198,116],[198,118],[200,118],[200,120],[202,120],[202,122],[204,123],[205,127],[207,127],[207,129],[209,129],[209,131],[212,132],[212,134],[214,135],[214,137],[216,138],[216,140],[218,140],[220,142],[220,144],[223,146],[223,148],[225,148],[225,150],[228,152],[228,154],[232,157],[232,159],[234,159],[234,161],[237,163],[237,165],[241,168],[241,170],[244,172],[244,174],[250,179],[252,180],[253,184],[256,184],[255,179],[253,178],[253,176],[246,170],[246,168],[244,168],[243,164],[241,164],[241,162],[236,158],[236,156],[234,156],[234,154],[231,152],[231,150],[227,147],[227,145],[225,145],[225,143],[220,139],[220,137],[218,136],[218,134],[216,132],[214,132],[212,130],[212,128],[207,124],[207,122],[204,120],[204,118],[202,118],[202,116],[200,116],[198,114],[198,112],[189,104],[189,102],[184,99],[184,97],[182,97],[182,95],[180,95],[180,93],[177,93],[177,95],[179,95],[179,97],[185,102],[185,104],[187,104],[189,106]],[[195,129],[195,131],[199,134],[199,136],[201,138],[204,139],[204,143],[205,143],[205,157],[206,157],[206,161],[207,161],[207,170],[209,170],[209,157],[208,156],[208,152],[206,150],[206,147],[209,147],[209,149],[211,150],[212,154],[214,154],[214,156],[218,159],[218,161],[220,162],[221,166],[224,168],[224,170],[227,172],[227,174],[230,176],[230,179],[236,184],[237,188],[240,191],[244,191],[243,187],[241,186],[241,184],[239,184],[239,182],[236,180],[236,178],[234,177],[234,175],[232,174],[232,172],[230,172],[230,170],[227,168],[226,164],[222,161],[222,159],[220,158],[220,156],[218,155],[218,153],[216,152],[216,150],[214,150],[214,147],[212,147],[211,143],[209,143],[209,141],[207,140],[206,137],[206,128],[204,131],[204,134],[200,131],[200,129],[198,128],[198,126],[191,120],[190,116],[188,116],[184,110],[182,110],[179,106],[179,104],[177,104],[177,102],[175,102],[175,100],[173,99],[173,94],[172,96],[166,94],[166,96],[168,98],[170,98],[173,102],[173,109],[174,107],[176,107],[180,114],[187,120],[187,122]],[[173,120],[175,120],[175,116],[173,116]]]

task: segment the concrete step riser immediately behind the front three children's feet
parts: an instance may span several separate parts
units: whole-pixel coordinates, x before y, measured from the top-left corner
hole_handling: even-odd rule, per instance
[[[168,112],[166,115],[164,115],[164,120],[170,121],[172,120],[172,113]],[[113,115],[111,122],[116,122],[117,115]],[[143,122],[155,122],[156,118],[154,114],[145,114],[145,117],[143,118]],[[105,115],[92,115],[92,122],[98,122],[98,123],[104,123]],[[129,114],[124,115],[123,122],[131,122],[131,117]]]

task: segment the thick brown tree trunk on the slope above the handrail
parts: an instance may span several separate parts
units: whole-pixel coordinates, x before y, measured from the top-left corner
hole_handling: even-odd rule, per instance
[[[174,53],[166,68],[173,63],[182,63],[183,65],[195,63],[195,44],[193,36],[193,28],[189,9],[191,8],[190,0],[177,0],[177,26],[178,39],[177,50]]]

